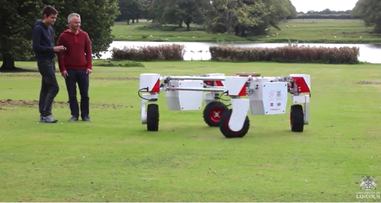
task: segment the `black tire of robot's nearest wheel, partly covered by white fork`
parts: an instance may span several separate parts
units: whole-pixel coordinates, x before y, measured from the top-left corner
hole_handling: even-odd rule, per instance
[[[232,115],[233,109],[229,109],[226,113],[221,117],[220,131],[226,138],[236,138],[236,137],[244,137],[250,128],[250,120],[246,115],[245,122],[242,126],[242,129],[239,131],[232,131],[229,128],[229,120]]]

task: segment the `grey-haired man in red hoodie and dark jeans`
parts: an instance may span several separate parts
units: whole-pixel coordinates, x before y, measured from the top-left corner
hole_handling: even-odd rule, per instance
[[[58,67],[62,77],[65,78],[69,96],[72,117],[68,121],[76,121],[79,118],[76,84],[81,96],[80,116],[84,121],[91,121],[88,96],[89,75],[92,71],[90,39],[86,32],[79,29],[81,25],[79,14],[71,13],[67,21],[70,29],[63,31],[58,38],[58,46],[66,48],[63,53],[58,54]]]

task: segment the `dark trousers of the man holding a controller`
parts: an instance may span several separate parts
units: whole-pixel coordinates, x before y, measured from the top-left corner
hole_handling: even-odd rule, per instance
[[[55,96],[59,91],[57,78],[55,77],[55,65],[53,60],[37,61],[38,71],[42,76],[41,91],[39,94],[38,109],[41,116],[51,115],[51,108]]]

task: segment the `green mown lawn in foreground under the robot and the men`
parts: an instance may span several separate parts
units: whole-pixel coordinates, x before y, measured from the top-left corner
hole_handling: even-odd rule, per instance
[[[379,65],[143,64],[94,67],[93,122],[66,121],[68,99],[58,77],[62,104],[53,115],[59,121],[36,124],[38,73],[0,73],[0,201],[380,202],[356,198],[364,192],[361,176],[381,176]],[[35,63],[16,66],[36,70]],[[168,111],[164,95],[159,131],[140,124],[140,73],[249,71],[311,74],[310,125],[303,133],[290,131],[288,110],[249,115],[249,133],[226,139],[206,126],[202,111]]]

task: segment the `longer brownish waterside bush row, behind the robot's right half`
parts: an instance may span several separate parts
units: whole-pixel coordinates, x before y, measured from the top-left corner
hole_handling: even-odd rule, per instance
[[[217,61],[277,61],[309,62],[328,64],[359,63],[360,49],[357,47],[209,47],[211,59]]]

